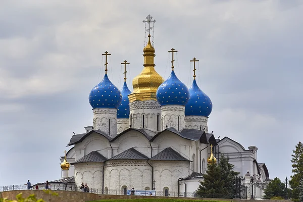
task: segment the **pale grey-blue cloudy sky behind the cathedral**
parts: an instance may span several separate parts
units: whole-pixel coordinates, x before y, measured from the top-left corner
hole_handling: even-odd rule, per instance
[[[123,85],[143,66],[144,23],[156,20],[156,71],[210,96],[209,131],[255,145],[270,178],[291,175],[302,141],[301,1],[1,1],[0,186],[56,180],[73,132],[92,125],[90,90]]]

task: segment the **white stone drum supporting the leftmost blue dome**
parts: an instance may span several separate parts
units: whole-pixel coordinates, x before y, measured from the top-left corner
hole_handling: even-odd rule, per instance
[[[117,109],[93,109],[93,128],[115,137],[117,135]]]

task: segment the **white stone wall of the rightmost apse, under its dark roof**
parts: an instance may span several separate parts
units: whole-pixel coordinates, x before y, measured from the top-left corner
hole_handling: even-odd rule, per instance
[[[152,161],[156,191],[178,191],[178,179],[187,177],[190,171],[189,162],[186,161]]]

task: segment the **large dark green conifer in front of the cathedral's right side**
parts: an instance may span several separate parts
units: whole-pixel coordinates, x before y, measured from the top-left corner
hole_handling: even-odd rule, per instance
[[[229,158],[220,157],[220,163],[214,161],[208,165],[204,181],[201,181],[197,189],[199,197],[232,198],[234,180],[239,173],[233,171],[234,166],[229,163]]]

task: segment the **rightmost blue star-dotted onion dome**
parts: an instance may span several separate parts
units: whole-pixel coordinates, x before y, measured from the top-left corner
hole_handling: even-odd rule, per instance
[[[208,117],[211,114],[213,110],[212,100],[199,88],[195,79],[189,88],[189,96],[190,98],[185,105],[185,116]]]

